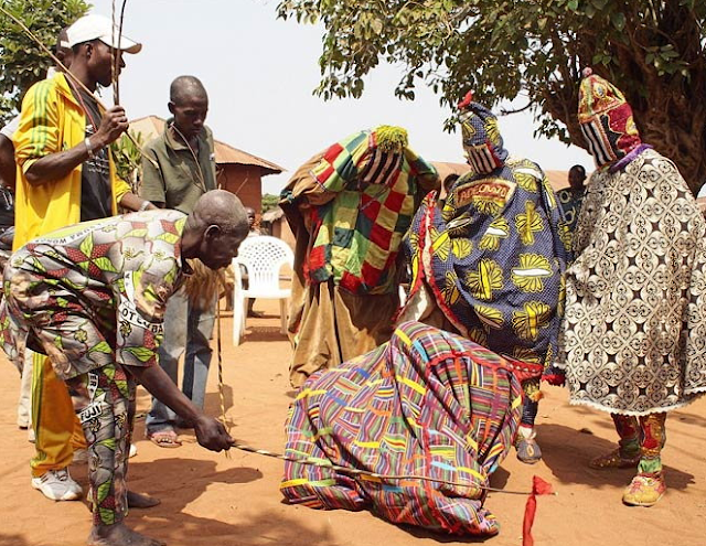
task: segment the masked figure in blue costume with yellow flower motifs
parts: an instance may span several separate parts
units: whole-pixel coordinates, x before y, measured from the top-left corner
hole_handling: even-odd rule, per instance
[[[509,157],[498,119],[470,94],[459,107],[472,171],[456,182],[443,210],[429,194],[414,218],[405,247],[413,281],[400,320],[458,332],[534,365],[521,428],[528,441],[539,376],[543,368],[555,374],[569,235],[542,169]],[[541,457],[534,441],[532,449],[526,462]]]

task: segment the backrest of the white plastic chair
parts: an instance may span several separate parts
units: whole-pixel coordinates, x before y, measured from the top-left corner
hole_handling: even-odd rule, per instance
[[[293,266],[295,254],[282,239],[258,235],[240,244],[236,261],[247,268],[247,291],[267,293],[280,290],[279,271],[284,265]]]

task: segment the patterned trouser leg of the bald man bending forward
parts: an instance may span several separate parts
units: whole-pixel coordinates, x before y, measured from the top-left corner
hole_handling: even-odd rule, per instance
[[[88,500],[94,525],[121,522],[128,512],[127,469],[136,384],[119,364],[66,382],[88,442]]]

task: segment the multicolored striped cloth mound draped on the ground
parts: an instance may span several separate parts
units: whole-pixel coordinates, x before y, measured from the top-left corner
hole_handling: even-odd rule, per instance
[[[383,482],[287,462],[280,489],[290,503],[314,508],[370,508],[393,523],[494,535],[482,486],[507,454],[521,409],[507,361],[406,322],[388,343],[303,384],[287,419],[286,454],[456,484]]]

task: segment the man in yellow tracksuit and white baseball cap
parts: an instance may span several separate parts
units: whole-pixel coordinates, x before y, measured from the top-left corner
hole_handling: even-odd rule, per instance
[[[118,32],[115,36],[117,41]],[[117,214],[118,204],[129,210],[153,205],[130,192],[116,175],[108,150],[128,128],[121,106],[105,109],[93,92],[111,84],[111,55],[125,67],[124,51],[141,45],[122,36],[113,47],[107,18],[86,15],[66,31],[66,47],[73,51],[71,75],[57,73],[26,92],[13,135],[17,169],[14,249],[55,229]],[[118,68],[118,73],[119,73]],[[81,82],[92,93],[78,84]],[[36,456],[32,459],[32,486],[54,501],[81,497],[72,480],[71,438],[74,409],[65,384],[42,354],[33,358],[32,405]],[[41,415],[39,408],[46,408]],[[132,497],[139,504],[138,497]]]

